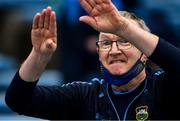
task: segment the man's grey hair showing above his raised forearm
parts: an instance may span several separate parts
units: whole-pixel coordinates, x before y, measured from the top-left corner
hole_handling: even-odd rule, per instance
[[[127,11],[119,11],[119,13],[127,19],[136,21],[143,30],[150,32],[150,29],[147,27],[144,20],[138,18],[134,13],[127,12]]]

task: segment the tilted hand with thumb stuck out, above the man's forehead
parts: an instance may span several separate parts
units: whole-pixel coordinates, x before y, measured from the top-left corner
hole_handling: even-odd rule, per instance
[[[90,15],[81,16],[80,21],[97,31],[116,33],[127,27],[125,18],[120,15],[111,0],[80,0],[80,4]]]

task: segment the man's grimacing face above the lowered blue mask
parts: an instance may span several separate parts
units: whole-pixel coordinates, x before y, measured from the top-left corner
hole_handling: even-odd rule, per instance
[[[124,42],[124,39],[113,34],[101,33],[99,41]],[[116,42],[113,42],[108,51],[98,48],[98,53],[101,63],[110,71],[110,73],[121,75],[127,72],[135,64],[135,62],[140,58],[141,52],[133,45],[128,45],[130,47],[126,49],[123,49],[123,47],[120,49],[121,47],[118,48],[117,44]]]

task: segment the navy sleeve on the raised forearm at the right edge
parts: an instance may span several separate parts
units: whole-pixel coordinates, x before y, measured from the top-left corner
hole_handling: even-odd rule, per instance
[[[169,42],[160,39],[158,45],[149,57],[154,63],[161,67],[167,74],[177,76],[180,79],[180,49]]]

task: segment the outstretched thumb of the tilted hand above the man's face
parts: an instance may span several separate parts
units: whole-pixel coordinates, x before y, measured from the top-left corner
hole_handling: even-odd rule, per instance
[[[97,24],[96,24],[96,20],[90,16],[81,16],[79,18],[79,21],[84,22],[88,25],[90,25],[91,27],[93,27],[95,30],[97,30]]]

